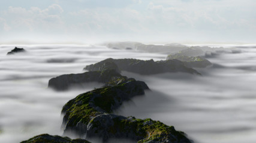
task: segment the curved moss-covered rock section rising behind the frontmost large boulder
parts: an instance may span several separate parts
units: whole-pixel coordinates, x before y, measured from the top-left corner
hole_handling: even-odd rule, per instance
[[[64,114],[64,132],[73,132],[83,136],[90,120],[104,113],[112,113],[137,95],[143,95],[149,89],[146,83],[135,79],[126,79],[116,86],[107,86],[78,95],[62,108]],[[77,126],[80,125],[80,126]],[[83,126],[83,128],[80,128]]]

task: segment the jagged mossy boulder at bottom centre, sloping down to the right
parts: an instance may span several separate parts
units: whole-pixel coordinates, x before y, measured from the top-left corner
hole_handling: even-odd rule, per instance
[[[179,132],[173,126],[164,125],[151,119],[135,119],[135,117],[101,114],[94,117],[88,124],[88,138],[98,137],[103,142],[108,139],[129,139],[134,142],[171,142],[189,143],[185,133]]]

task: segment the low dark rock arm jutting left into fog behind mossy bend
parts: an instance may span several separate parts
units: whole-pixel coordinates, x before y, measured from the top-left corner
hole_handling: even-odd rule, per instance
[[[116,70],[89,71],[79,74],[64,74],[49,80],[48,87],[57,91],[65,91],[71,86],[80,86],[89,82],[106,83],[106,86],[115,85],[115,82],[127,79]]]

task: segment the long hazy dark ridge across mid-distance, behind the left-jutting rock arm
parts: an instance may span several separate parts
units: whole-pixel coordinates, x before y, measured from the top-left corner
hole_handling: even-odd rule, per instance
[[[196,70],[186,67],[182,61],[179,60],[166,60],[166,61],[143,61],[132,58],[113,59],[107,58],[96,64],[86,66],[84,70],[98,71],[105,63],[115,63],[116,66],[122,71],[130,71],[138,74],[158,74],[167,72],[185,72],[191,74],[200,74]]]

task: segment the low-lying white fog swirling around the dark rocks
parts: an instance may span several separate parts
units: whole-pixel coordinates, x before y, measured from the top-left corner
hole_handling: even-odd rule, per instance
[[[17,46],[17,45],[14,45]],[[14,46],[0,46],[0,142],[14,143],[49,133],[62,135],[62,106],[82,92],[100,87],[55,92],[48,80],[106,58],[165,60],[153,54],[105,46],[18,46],[26,53],[7,56]],[[116,113],[150,117],[200,143],[254,143],[256,141],[256,47],[240,47],[236,54],[219,54],[207,60],[212,67],[197,69],[203,76],[165,73],[140,76],[152,91],[125,102]]]

